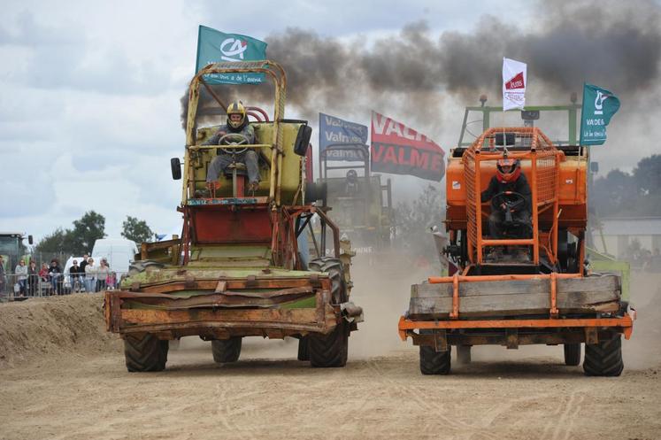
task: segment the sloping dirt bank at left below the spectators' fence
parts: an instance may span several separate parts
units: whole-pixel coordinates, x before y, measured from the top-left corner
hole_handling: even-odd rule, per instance
[[[105,331],[103,305],[100,293],[0,305],[0,366],[64,353],[86,355],[120,344]]]

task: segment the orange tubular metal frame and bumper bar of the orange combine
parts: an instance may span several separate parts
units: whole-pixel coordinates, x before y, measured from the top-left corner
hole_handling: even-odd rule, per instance
[[[532,196],[532,223],[533,237],[529,239],[493,239],[482,237],[482,207],[480,202],[480,164],[487,161],[495,161],[503,158],[504,151],[496,151],[496,133],[515,133],[519,138],[526,140],[530,146],[529,151],[508,151],[508,158],[530,160],[529,184]],[[488,150],[482,147],[487,145]],[[624,333],[628,339],[633,331],[633,320],[626,314],[622,317],[613,318],[576,318],[557,319],[557,280],[564,278],[581,278],[584,276],[583,265],[580,265],[577,274],[495,274],[495,275],[473,275],[470,269],[483,263],[484,248],[486,246],[527,245],[533,246],[533,262],[539,265],[540,249],[542,249],[551,264],[557,262],[557,228],[558,228],[558,199],[559,199],[559,163],[563,158],[563,152],[558,151],[549,138],[536,127],[494,127],[489,128],[467,149],[462,157],[465,170],[465,196],[466,196],[466,228],[468,231],[468,264],[461,274],[458,272],[453,276],[432,276],[428,278],[429,283],[452,283],[452,310],[450,320],[410,320],[401,317],[398,324],[399,336],[406,340],[407,336],[413,337],[414,343],[419,334],[413,332],[415,329],[427,330],[451,330],[466,328],[585,328],[586,340],[588,333],[597,328],[610,328]],[[542,162],[542,164],[540,164]],[[540,166],[542,165],[542,166]],[[542,174],[542,175],[540,175]],[[552,223],[546,231],[539,230],[539,214],[552,210]],[[455,231],[450,230],[450,233]],[[548,245],[542,242],[548,240]],[[585,244],[580,241],[580,261],[585,256]],[[550,310],[547,319],[502,319],[502,320],[460,320],[459,316],[459,283],[460,282],[503,282],[511,280],[539,280],[546,279],[550,282]]]

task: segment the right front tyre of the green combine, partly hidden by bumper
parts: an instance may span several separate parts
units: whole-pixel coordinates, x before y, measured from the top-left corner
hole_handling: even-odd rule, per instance
[[[331,298],[334,304],[347,300],[342,261],[330,257],[311,260],[311,270],[328,274]],[[344,367],[347,364],[350,328],[342,320],[327,335],[311,334],[308,339],[308,357],[312,367]]]

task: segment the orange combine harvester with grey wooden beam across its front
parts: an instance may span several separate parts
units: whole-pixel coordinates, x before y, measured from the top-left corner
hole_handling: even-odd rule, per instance
[[[519,160],[531,212],[526,225],[504,216],[496,235],[481,193],[503,158]],[[450,276],[411,286],[398,326],[403,340],[419,345],[423,374],[449,374],[452,345],[465,363],[471,347],[483,344],[563,344],[565,364],[573,366],[585,344],[586,374],[622,372],[621,334],[631,336],[633,321],[620,277],[591,274],[584,263],[587,167],[585,147],[556,147],[536,127],[489,128],[470,147],[451,151],[448,236],[435,234]],[[523,198],[511,191],[496,197],[508,210]]]

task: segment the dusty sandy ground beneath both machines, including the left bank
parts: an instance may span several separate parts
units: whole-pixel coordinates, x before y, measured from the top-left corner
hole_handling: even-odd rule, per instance
[[[254,338],[223,366],[185,338],[165,372],[128,374],[100,297],[0,305],[0,438],[661,439],[661,276],[634,276],[639,320],[619,378],[585,377],[560,347],[536,346],[481,347],[450,376],[419,374],[396,322],[422,276],[355,270],[365,323],[342,369]]]

